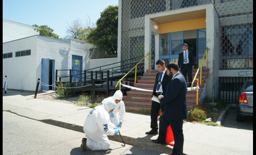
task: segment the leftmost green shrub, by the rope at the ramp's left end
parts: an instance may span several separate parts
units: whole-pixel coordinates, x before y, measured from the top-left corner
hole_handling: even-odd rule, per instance
[[[57,95],[59,96],[59,98],[68,98],[70,97],[70,92],[71,92],[71,88],[67,88],[67,87],[71,87],[70,83],[66,82],[66,83],[62,83],[62,82],[58,82],[57,83]]]

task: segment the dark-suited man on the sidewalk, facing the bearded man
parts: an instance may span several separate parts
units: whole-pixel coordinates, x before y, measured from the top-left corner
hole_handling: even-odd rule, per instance
[[[166,85],[169,83],[170,78],[166,73],[166,68],[165,68],[165,62],[162,59],[159,59],[156,62],[157,69],[160,73],[156,74],[156,81],[153,89],[153,94],[152,96],[158,96],[164,93],[164,90],[166,88]],[[146,134],[158,134],[158,124],[157,124],[157,116],[159,113],[159,110],[164,111],[164,107],[160,106],[158,102],[152,101],[151,100],[151,123],[150,127],[151,130],[146,132]]]

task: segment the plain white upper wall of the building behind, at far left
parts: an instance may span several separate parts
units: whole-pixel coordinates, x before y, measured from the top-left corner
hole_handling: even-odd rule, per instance
[[[35,27],[3,19],[3,43],[29,36],[39,35]]]

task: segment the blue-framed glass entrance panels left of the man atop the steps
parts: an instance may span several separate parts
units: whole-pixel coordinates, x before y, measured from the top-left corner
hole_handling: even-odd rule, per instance
[[[163,59],[165,64],[169,64],[170,62],[178,63],[179,53],[182,51],[183,32],[170,33],[167,41],[170,42],[170,47],[166,47],[166,40],[160,38],[159,59]]]

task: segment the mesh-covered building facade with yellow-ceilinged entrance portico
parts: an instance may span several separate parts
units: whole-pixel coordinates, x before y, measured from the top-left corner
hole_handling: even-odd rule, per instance
[[[225,102],[253,77],[252,0],[119,0],[118,17],[120,61],[149,53],[156,69],[158,59],[177,62],[187,43],[197,68],[208,48],[206,95]]]

